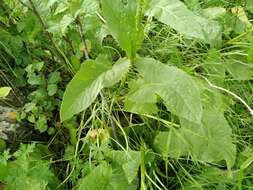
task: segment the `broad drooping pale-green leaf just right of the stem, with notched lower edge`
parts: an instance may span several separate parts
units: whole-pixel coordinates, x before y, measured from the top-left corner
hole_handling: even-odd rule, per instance
[[[190,75],[151,58],[140,58],[136,65],[142,78],[133,82],[131,86],[125,101],[127,111],[141,114],[155,113],[158,95],[173,114],[200,123],[202,118],[200,91]]]

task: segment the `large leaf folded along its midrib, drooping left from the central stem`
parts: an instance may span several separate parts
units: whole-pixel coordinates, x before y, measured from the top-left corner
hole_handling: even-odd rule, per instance
[[[85,110],[96,99],[101,89],[117,83],[128,71],[130,62],[120,59],[113,66],[105,58],[89,60],[67,85],[62,105],[61,121]]]

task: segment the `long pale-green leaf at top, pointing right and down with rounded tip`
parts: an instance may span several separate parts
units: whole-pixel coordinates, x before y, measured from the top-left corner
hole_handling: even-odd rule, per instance
[[[146,14],[179,33],[206,43],[213,43],[221,37],[217,22],[196,15],[179,0],[150,0]]]

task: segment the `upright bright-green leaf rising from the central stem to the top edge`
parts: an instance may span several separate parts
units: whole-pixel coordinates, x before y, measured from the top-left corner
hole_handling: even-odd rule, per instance
[[[103,0],[103,16],[112,35],[118,40],[129,58],[135,58],[144,32],[141,26],[141,5],[136,0]]]

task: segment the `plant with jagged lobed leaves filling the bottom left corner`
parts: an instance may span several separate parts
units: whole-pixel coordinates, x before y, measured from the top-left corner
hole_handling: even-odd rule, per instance
[[[0,155],[0,181],[5,189],[51,189],[57,178],[49,169],[49,162],[42,160],[42,153],[35,144],[21,145],[14,154],[4,151]],[[10,160],[12,158],[12,161]]]

